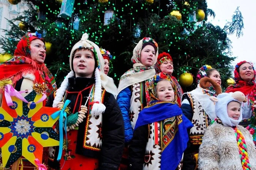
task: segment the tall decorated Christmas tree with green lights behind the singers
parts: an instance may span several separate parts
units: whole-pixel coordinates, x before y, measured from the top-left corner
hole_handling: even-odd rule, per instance
[[[10,0],[18,3],[19,0]],[[173,76],[184,72],[195,76],[204,64],[217,68],[222,86],[231,77],[231,42],[227,35],[242,35],[243,21],[239,9],[224,28],[214,26],[207,17],[215,16],[206,0],[22,0],[29,9],[14,20],[0,39],[2,48],[14,54],[18,40],[28,31],[42,33],[46,40],[45,63],[61,80],[69,72],[69,54],[74,44],[87,32],[89,39],[110,51],[109,76],[118,85],[120,76],[132,68],[131,57],[136,43],[152,37],[159,53],[168,52],[174,63]],[[18,27],[14,21],[20,21]],[[181,82],[183,81],[183,82]],[[180,80],[181,84],[184,80]],[[195,88],[194,83],[184,91]]]

